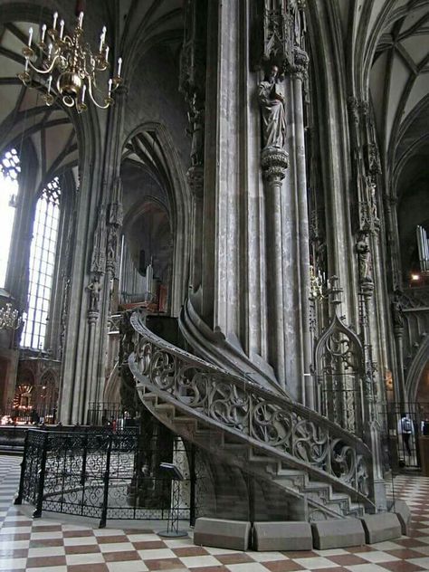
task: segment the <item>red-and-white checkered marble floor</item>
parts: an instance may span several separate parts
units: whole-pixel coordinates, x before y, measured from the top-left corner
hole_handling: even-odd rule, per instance
[[[0,571],[14,572],[412,572],[429,570],[429,478],[396,477],[396,498],[413,511],[411,537],[335,550],[236,552],[162,539],[150,529],[97,529],[56,516],[32,520],[12,504],[16,457],[0,457]],[[56,520],[55,520],[56,519]]]

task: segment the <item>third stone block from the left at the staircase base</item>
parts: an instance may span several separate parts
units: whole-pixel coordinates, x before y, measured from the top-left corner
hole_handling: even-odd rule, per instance
[[[365,544],[365,531],[358,519],[321,520],[311,524],[314,548],[345,548]]]

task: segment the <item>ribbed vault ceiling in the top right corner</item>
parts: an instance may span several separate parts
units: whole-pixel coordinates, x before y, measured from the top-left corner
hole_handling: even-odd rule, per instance
[[[352,37],[355,84],[368,93],[386,168],[419,152],[428,137],[429,3],[427,0],[338,1]]]

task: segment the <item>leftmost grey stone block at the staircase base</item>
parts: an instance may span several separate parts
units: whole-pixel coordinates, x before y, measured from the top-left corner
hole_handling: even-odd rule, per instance
[[[247,550],[250,531],[250,522],[202,517],[195,520],[194,544],[232,550]]]

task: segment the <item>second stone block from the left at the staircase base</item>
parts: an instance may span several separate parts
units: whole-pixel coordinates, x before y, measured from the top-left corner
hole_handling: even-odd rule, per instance
[[[255,522],[255,550],[311,550],[313,537],[309,522]]]

